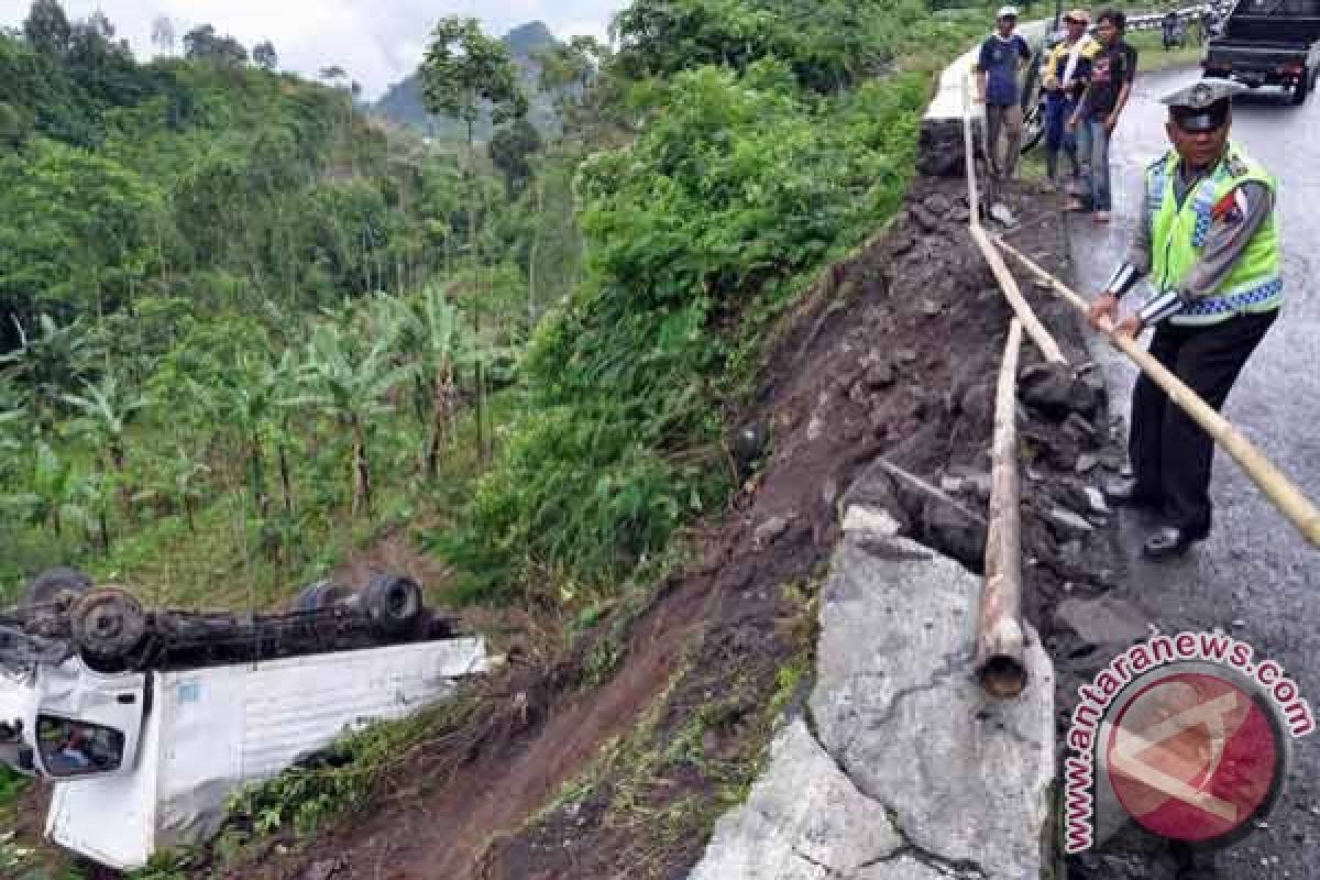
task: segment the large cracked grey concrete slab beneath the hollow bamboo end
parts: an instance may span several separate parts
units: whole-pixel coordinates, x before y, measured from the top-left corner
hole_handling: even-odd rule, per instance
[[[775,740],[690,880],[1035,880],[1053,778],[1053,672],[993,701],[972,677],[981,579],[849,509],[809,719]],[[810,723],[808,723],[810,722]]]

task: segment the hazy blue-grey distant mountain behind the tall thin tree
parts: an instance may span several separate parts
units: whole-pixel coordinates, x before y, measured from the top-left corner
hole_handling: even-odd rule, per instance
[[[558,40],[545,26],[545,22],[529,21],[504,34],[502,42],[508,46],[510,55],[519,67],[523,91],[527,92],[527,99],[532,104],[528,120],[541,132],[553,131],[558,127],[558,117],[554,113],[554,103],[550,96],[537,88],[541,66],[536,62],[535,55],[558,45]],[[370,112],[401,125],[411,125],[424,135],[467,137],[465,127],[458,120],[432,116],[426,112],[421,100],[421,71],[391,86],[384,96],[370,107]],[[491,136],[490,120],[480,120],[474,133],[477,140],[488,140]]]

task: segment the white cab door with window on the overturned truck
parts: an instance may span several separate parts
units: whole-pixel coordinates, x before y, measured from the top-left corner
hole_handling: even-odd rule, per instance
[[[137,759],[148,681],[102,676],[70,661],[38,677],[33,740],[40,772],[74,781],[129,773]]]

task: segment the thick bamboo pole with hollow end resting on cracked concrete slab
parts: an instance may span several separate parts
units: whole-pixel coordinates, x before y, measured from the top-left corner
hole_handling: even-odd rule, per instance
[[[1008,325],[1008,342],[995,389],[986,583],[977,627],[975,669],[994,697],[1016,697],[1027,686],[1022,631],[1022,521],[1018,497],[1018,352],[1022,322]]]

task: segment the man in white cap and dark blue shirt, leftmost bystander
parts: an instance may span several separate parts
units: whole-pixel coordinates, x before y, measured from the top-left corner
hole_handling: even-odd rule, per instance
[[[986,106],[986,160],[990,175],[1011,178],[1022,153],[1022,95],[1018,73],[1031,59],[1027,41],[1014,33],[1018,9],[1003,7],[995,16],[995,32],[981,44],[977,74],[977,103]],[[999,133],[1005,135],[1003,161],[999,161]]]

